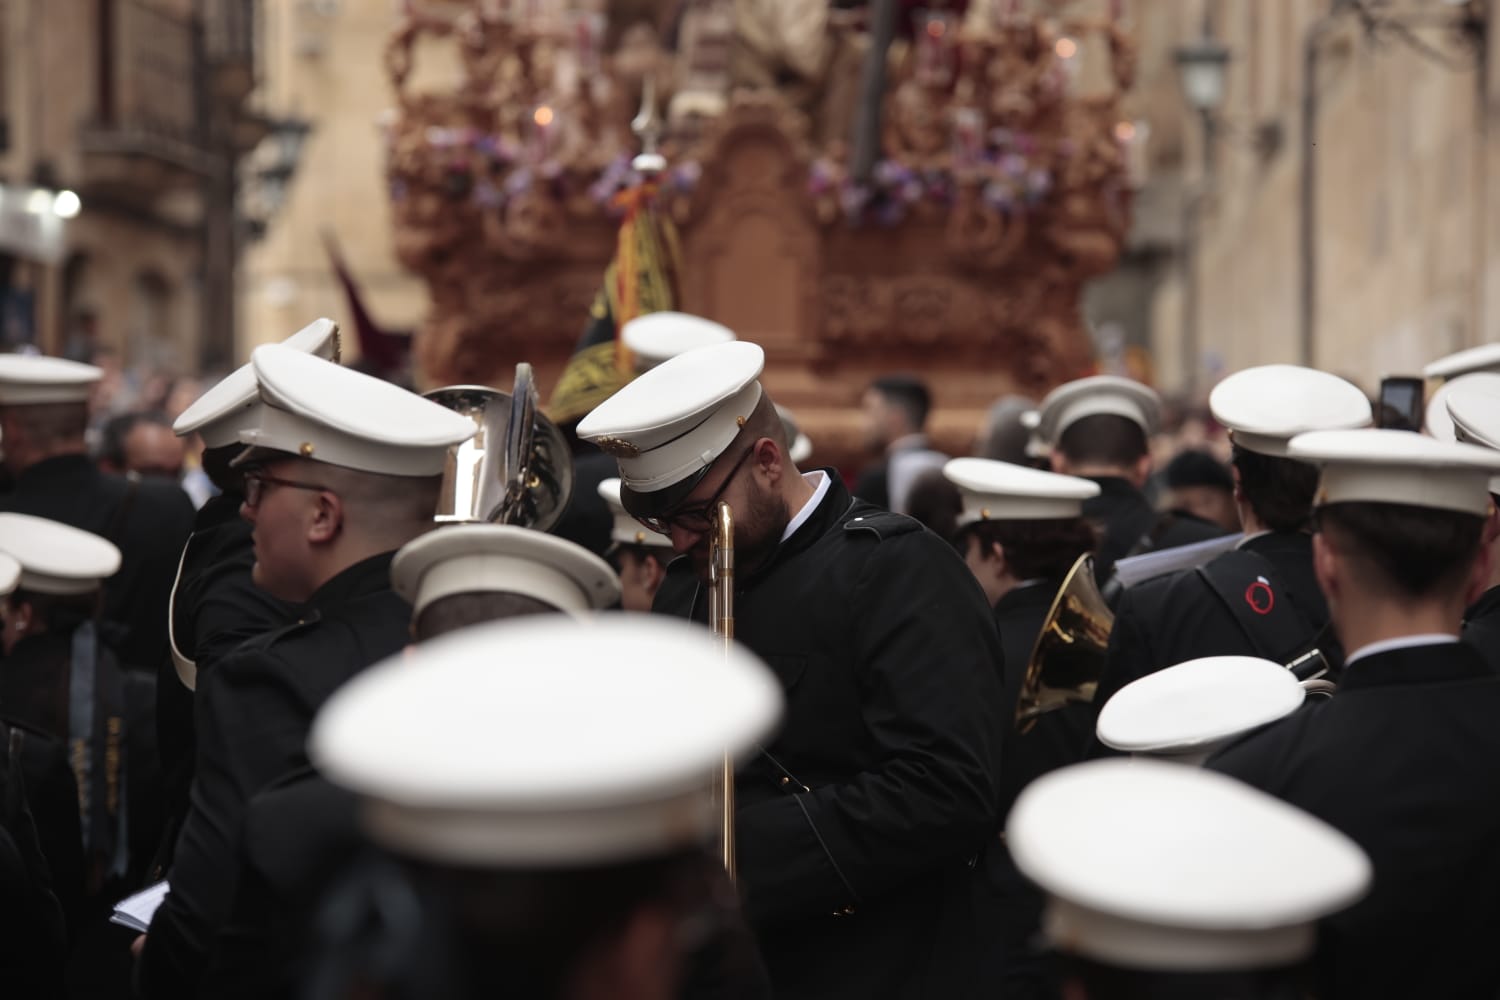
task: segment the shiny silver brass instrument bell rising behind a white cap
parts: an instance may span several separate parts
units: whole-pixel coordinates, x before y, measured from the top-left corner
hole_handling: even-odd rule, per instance
[[[512,393],[448,385],[426,397],[474,421],[474,436],[448,448],[435,520],[556,525],[573,495],[573,456],[558,426],[537,411],[530,364],[516,366]]]

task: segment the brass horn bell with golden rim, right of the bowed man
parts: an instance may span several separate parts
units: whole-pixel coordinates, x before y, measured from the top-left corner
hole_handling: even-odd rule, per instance
[[[1016,703],[1020,732],[1030,732],[1046,712],[1094,700],[1113,627],[1114,613],[1094,582],[1094,556],[1084,553],[1058,589],[1026,663]]]

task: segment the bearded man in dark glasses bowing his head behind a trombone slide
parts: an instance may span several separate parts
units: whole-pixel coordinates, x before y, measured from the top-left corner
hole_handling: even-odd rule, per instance
[[[736,775],[740,889],[777,997],[969,997],[972,862],[1014,708],[982,591],[920,523],[801,474],[734,342],[640,375],[579,424],[627,511],[678,553],[654,610],[708,616],[714,505],[735,519],[735,637],[780,735]]]

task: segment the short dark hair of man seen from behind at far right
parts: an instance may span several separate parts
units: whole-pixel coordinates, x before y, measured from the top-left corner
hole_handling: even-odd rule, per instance
[[[1462,588],[1485,526],[1479,514],[1408,504],[1330,504],[1316,520],[1341,556],[1362,564],[1368,586],[1401,598]]]

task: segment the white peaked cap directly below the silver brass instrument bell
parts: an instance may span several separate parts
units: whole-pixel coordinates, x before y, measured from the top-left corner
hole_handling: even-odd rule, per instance
[[[524,594],[584,615],[620,600],[609,564],[566,538],[516,525],[448,525],[412,538],[390,564],[412,618],[453,594]]]

